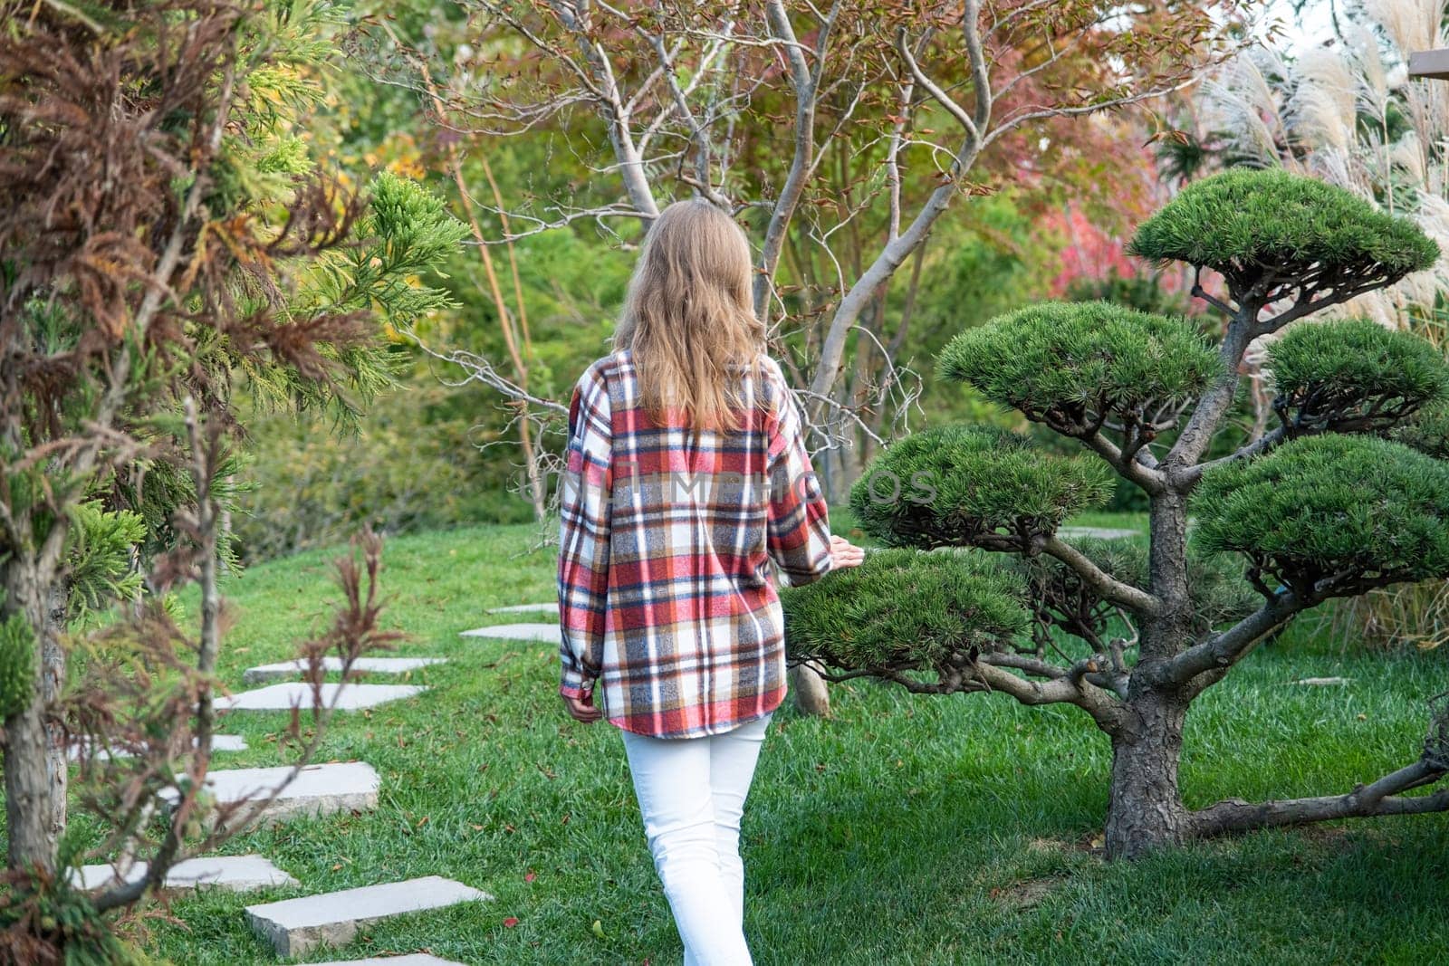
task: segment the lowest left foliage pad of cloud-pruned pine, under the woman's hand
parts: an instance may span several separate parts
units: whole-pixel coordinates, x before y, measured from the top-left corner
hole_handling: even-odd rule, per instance
[[[1019,642],[1030,620],[1022,585],[977,550],[872,550],[781,601],[793,658],[838,668],[940,669]]]

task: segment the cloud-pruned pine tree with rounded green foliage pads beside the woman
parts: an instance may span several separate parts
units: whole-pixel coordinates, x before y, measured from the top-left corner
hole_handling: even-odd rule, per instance
[[[1327,184],[1232,171],[1185,188],[1130,251],[1220,274],[1217,291],[1194,285],[1227,316],[1220,343],[1103,301],[1032,306],[955,336],[945,379],[1081,452],[962,426],[888,446],[851,503],[895,549],[784,592],[793,659],[833,679],[1081,708],[1113,747],[1110,857],[1449,810],[1449,788],[1404,794],[1449,769],[1442,704],[1420,757],[1356,789],[1200,811],[1178,792],[1188,707],[1258,642],[1330,598],[1449,575],[1449,368],[1433,348],[1362,320],[1297,326],[1271,348],[1278,427],[1237,439],[1227,419],[1253,339],[1427,268],[1435,243]],[[1061,536],[1113,474],[1145,491],[1149,545]]]

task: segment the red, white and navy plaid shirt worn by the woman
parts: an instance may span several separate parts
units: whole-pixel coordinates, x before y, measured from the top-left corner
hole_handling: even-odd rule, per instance
[[[830,569],[830,523],[778,364],[740,372],[742,433],[658,426],[630,352],[596,361],[568,410],[559,487],[559,692],[593,691],[639,734],[717,734],[785,697],[771,563],[791,585]],[[597,688],[596,688],[597,682]]]

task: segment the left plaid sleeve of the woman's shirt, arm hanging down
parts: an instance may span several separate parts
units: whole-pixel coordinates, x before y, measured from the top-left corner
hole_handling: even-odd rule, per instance
[[[598,366],[574,385],[568,404],[567,472],[559,488],[558,613],[559,694],[593,691],[604,652],[609,597],[610,491],[613,490],[609,390]]]

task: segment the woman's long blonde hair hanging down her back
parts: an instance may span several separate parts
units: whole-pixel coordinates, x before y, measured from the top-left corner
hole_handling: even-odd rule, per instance
[[[703,198],[675,201],[649,227],[614,349],[632,350],[643,407],[659,424],[667,408],[682,408],[696,429],[742,429],[740,368],[758,379],[765,352],[752,275],[745,232]]]

